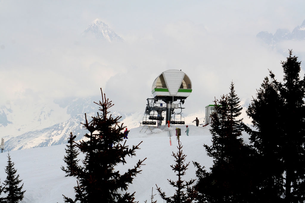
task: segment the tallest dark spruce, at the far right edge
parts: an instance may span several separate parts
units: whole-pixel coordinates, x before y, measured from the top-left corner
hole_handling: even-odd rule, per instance
[[[285,170],[285,202],[305,201],[305,77],[300,80],[301,62],[292,56],[282,61],[284,84],[271,78],[284,101],[282,160]]]

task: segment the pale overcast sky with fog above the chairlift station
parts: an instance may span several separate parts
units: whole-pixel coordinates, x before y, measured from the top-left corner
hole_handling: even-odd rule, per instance
[[[304,8],[303,0],[0,0],[0,106],[99,95],[102,88],[118,110],[144,112],[152,82],[168,69],[192,80],[186,113],[228,93],[231,81],[251,100],[268,68],[282,79],[288,56],[257,33],[292,32]],[[82,37],[97,18],[124,43]],[[282,47],[305,53],[304,41]]]

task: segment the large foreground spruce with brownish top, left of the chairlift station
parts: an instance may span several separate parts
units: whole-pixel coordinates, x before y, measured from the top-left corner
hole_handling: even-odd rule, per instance
[[[106,99],[103,95],[102,102],[99,105],[101,114],[97,113],[92,120],[88,122],[85,114],[84,128],[89,134],[84,135],[88,141],[82,140],[77,147],[85,157],[82,160],[83,165],[78,166],[75,176],[77,177],[77,186],[75,189],[75,200],[64,196],[65,202],[98,203],[98,202],[134,202],[135,193],[122,194],[126,191],[128,185],[132,183],[134,177],[141,172],[139,170],[144,160],[139,160],[136,166],[128,169],[125,173],[115,170],[115,166],[125,164],[126,156],[135,156],[137,146],[128,148],[126,141],[123,142],[124,134],[123,124],[119,125],[120,117],[113,118],[109,115],[109,108],[113,106],[112,101]]]

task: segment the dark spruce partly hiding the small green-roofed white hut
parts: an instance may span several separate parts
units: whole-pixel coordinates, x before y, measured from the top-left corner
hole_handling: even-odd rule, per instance
[[[252,202],[252,185],[249,147],[243,144],[242,107],[231,82],[230,93],[214,100],[211,114],[212,146],[204,145],[207,155],[213,157],[213,166],[206,172],[199,163],[197,187],[200,202]]]

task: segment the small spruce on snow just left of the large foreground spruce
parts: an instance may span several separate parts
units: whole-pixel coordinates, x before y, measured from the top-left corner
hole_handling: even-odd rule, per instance
[[[77,156],[79,155],[78,150],[76,149],[76,144],[74,143],[74,138],[76,136],[70,132],[70,137],[68,140],[68,144],[66,145],[67,149],[66,150],[66,156],[64,156],[64,162],[67,164],[67,167],[65,168],[64,166],[61,166],[61,170],[66,172],[66,176],[73,176],[75,175],[77,164],[78,164],[78,159]]]

